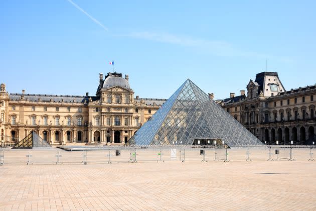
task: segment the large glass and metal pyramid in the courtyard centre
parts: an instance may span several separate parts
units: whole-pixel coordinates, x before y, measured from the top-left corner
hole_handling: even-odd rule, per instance
[[[129,139],[127,145],[192,145],[222,140],[229,147],[263,145],[190,79]]]

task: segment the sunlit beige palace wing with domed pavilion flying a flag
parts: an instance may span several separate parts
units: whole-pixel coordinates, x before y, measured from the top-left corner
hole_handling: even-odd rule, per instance
[[[99,76],[95,96],[8,93],[1,85],[0,130],[18,141],[35,131],[54,145],[75,142],[122,144],[166,101],[134,97],[128,75]]]

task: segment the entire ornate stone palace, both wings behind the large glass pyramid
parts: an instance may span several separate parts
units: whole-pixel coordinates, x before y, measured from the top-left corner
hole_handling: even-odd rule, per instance
[[[100,73],[98,84],[95,95],[84,96],[8,93],[1,84],[1,141],[36,132],[53,145],[121,145],[166,102],[134,96],[121,73]],[[315,85],[286,90],[276,72],[262,72],[247,93],[215,101],[263,143],[307,145],[316,144],[315,97]]]

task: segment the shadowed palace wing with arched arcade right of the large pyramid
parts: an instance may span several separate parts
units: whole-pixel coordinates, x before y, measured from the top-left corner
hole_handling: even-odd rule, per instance
[[[266,144],[316,144],[316,85],[286,91],[276,72],[262,72],[247,85],[247,95],[217,100]]]

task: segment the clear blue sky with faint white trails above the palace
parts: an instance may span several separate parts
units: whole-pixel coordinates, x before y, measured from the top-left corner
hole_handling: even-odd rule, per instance
[[[190,78],[225,98],[267,59],[289,90],[316,83],[315,11],[315,1],[3,0],[0,82],[94,95],[114,61],[140,97],[168,98]]]

